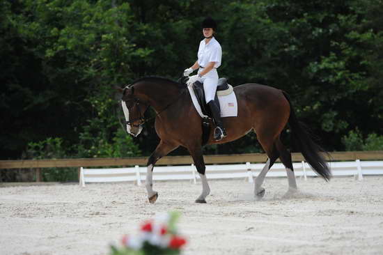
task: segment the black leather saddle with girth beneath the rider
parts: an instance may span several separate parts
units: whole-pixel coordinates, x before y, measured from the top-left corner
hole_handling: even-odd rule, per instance
[[[225,91],[228,89],[228,81],[226,78],[220,78],[218,79],[218,85],[217,85],[217,91]],[[205,100],[205,91],[203,90],[203,83],[201,82],[194,82],[193,84],[193,90],[194,94],[196,95],[198,104],[201,106],[201,111],[206,116],[209,116],[209,118],[203,118],[202,120],[202,145],[205,146],[208,143],[208,139],[210,136],[210,125],[212,125],[212,112],[210,111],[210,107],[206,104]],[[214,96],[214,101],[217,103],[218,109],[220,109],[219,100],[217,96],[217,92]]]

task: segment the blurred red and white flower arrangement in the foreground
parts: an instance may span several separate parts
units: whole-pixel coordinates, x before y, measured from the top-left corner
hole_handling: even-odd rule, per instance
[[[169,212],[143,222],[138,235],[123,235],[121,247],[111,246],[111,255],[180,254],[186,240],[175,227],[179,216],[178,212]]]

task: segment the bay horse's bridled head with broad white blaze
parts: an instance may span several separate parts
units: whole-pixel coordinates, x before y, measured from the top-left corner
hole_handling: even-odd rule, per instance
[[[136,137],[142,131],[142,125],[145,123],[144,114],[149,105],[134,95],[133,86],[126,86],[122,92],[121,105],[125,115],[126,130]]]

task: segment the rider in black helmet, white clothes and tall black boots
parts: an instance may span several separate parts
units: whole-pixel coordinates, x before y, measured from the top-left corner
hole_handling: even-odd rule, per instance
[[[222,49],[219,42],[215,40],[214,33],[217,30],[217,23],[207,17],[202,22],[203,36],[198,48],[198,59],[192,67],[185,69],[184,76],[189,76],[194,70],[198,69],[198,74],[189,77],[188,86],[192,86],[194,82],[202,82],[205,91],[205,100],[217,127],[214,130],[214,140],[220,141],[226,137],[226,131],[221,121],[219,107],[214,102],[215,92],[217,91],[218,72],[217,68],[221,65]]]

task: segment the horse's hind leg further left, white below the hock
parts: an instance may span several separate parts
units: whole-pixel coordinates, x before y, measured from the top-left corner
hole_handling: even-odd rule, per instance
[[[267,172],[272,167],[275,160],[279,157],[278,150],[276,150],[273,143],[262,143],[262,141],[260,141],[260,144],[267,153],[267,162],[265,164],[265,167],[263,167],[262,171],[260,171],[260,173],[258,174],[254,184],[254,194],[257,199],[261,199],[265,195],[265,188],[262,187],[263,180],[265,180]]]

